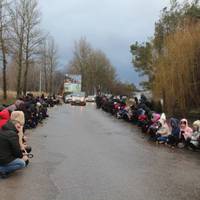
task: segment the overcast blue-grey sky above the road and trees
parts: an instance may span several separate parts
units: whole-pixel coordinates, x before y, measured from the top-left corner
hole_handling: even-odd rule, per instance
[[[81,37],[101,49],[119,78],[138,84],[131,64],[130,45],[153,35],[154,23],[169,0],[39,0],[42,27],[59,48],[61,66],[73,56]]]

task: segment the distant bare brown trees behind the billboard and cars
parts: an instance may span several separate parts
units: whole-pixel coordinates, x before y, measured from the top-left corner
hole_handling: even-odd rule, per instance
[[[118,79],[115,67],[104,52],[94,49],[85,38],[75,43],[68,73],[82,76],[82,90],[87,95],[101,93],[132,96],[134,84]]]

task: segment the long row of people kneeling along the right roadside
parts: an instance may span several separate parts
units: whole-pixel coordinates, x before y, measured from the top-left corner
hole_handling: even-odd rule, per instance
[[[152,104],[141,98],[129,100],[123,96],[97,96],[96,106],[139,127],[149,136],[149,140],[174,148],[200,149],[200,120],[190,127],[187,119],[167,119],[165,113],[153,111]]]

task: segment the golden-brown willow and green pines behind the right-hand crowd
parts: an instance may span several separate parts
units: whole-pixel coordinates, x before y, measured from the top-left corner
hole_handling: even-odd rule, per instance
[[[154,99],[170,114],[200,107],[200,3],[172,0],[155,23],[154,36],[131,45],[133,65],[148,81]]]

